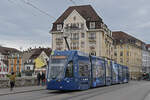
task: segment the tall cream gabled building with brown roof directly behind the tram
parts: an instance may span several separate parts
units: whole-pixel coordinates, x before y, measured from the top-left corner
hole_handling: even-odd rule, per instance
[[[90,5],[69,7],[54,23],[52,49],[67,50],[67,36],[71,50],[113,59],[112,32]]]

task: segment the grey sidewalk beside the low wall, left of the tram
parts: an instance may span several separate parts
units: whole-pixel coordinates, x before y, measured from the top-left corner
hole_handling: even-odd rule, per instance
[[[13,91],[10,91],[10,88],[0,89],[0,96],[9,95],[9,94],[17,94],[24,92],[32,92],[32,91],[40,91],[45,90],[46,86],[29,86],[29,87],[15,87]]]

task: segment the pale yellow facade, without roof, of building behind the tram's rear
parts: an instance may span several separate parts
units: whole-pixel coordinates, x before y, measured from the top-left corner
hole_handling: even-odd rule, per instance
[[[130,76],[138,79],[142,74],[142,49],[130,43],[116,44],[115,60],[129,67]]]

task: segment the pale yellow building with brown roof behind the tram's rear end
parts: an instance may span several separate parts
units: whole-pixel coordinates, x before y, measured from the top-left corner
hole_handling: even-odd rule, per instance
[[[130,77],[138,79],[142,74],[142,44],[135,37],[122,32],[112,32],[114,43],[114,57],[119,64],[129,67]]]

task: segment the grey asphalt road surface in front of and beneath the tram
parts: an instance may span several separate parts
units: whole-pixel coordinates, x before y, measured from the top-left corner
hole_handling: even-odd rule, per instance
[[[0,100],[150,100],[150,82],[132,81],[86,91],[33,91],[0,96]]]

